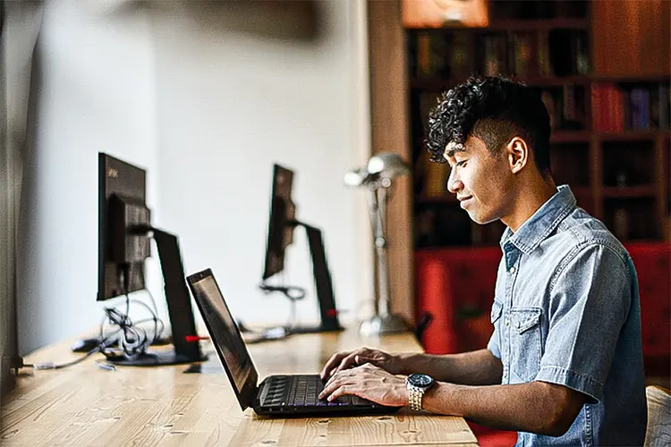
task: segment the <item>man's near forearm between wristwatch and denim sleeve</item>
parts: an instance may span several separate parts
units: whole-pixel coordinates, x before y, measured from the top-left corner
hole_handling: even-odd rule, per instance
[[[422,399],[432,413],[468,417],[504,430],[561,436],[585,402],[582,392],[546,382],[496,386],[436,383]]]

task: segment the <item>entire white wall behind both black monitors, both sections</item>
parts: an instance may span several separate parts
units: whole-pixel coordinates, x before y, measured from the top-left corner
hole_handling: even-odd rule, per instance
[[[342,186],[369,151],[363,2],[318,5],[319,38],[306,40],[269,37],[259,32],[264,19],[212,4],[47,2],[21,247],[21,352],[102,316],[98,151],[148,169],[154,223],[180,236],[187,274],[214,269],[236,316],[288,316],[285,299],[257,289],[273,162],[296,170],[299,217],[324,231],[338,307],[353,311],[370,298],[363,198]],[[149,289],[162,302],[151,262]],[[309,287],[299,316],[316,321],[302,232],[287,269],[286,283]]]

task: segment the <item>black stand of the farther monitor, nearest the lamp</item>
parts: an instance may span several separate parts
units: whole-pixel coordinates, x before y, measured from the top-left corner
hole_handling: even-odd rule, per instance
[[[294,326],[291,333],[324,333],[342,331],[343,327],[338,321],[335,309],[335,298],[333,295],[333,283],[331,274],[328,272],[326,249],[321,237],[321,230],[307,223],[292,221],[293,227],[302,226],[308,235],[308,245],[312,257],[312,274],[315,277],[317,288],[317,299],[319,300],[319,317],[321,324],[316,326]]]

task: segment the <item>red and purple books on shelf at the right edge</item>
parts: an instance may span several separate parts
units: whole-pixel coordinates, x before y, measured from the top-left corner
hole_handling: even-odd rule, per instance
[[[591,86],[592,130],[668,130],[671,97],[667,83],[623,89],[614,83]]]

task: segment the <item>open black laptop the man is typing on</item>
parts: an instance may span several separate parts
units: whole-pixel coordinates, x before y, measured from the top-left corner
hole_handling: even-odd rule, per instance
[[[318,374],[270,375],[258,384],[259,374],[212,271],[203,270],[186,279],[243,411],[251,407],[259,415],[351,416],[388,414],[399,409],[357,396],[319,400],[324,384]]]

